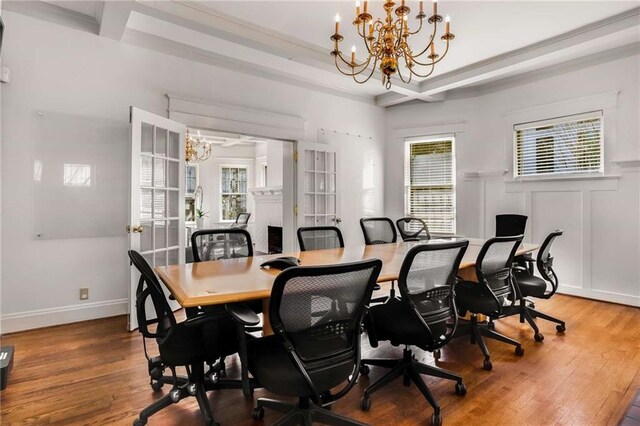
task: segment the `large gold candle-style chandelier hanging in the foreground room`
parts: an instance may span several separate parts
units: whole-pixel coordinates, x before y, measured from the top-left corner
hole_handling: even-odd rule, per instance
[[[411,31],[409,29],[409,13],[411,9],[405,5],[405,0],[402,0],[400,6],[395,8],[395,14],[397,18],[394,19],[393,12],[396,3],[392,0],[387,0],[384,3],[384,10],[387,14],[384,21],[377,19],[373,21],[373,16],[368,12],[368,2],[364,2],[364,8],[360,13],[360,2],[356,2],[356,18],[353,21],[358,35],[362,37],[364,45],[366,47],[366,53],[368,55],[366,61],[356,61],[356,46],[351,48],[351,60],[348,61],[342,56],[340,52],[340,42],[343,37],[340,35],[340,15],[336,14],[336,32],[331,36],[331,40],[334,41],[334,48],[331,55],[335,58],[336,67],[342,74],[353,77],[356,83],[367,82],[376,70],[378,62],[380,62],[380,71],[382,72],[382,84],[388,89],[391,88],[391,76],[398,72],[400,79],[409,83],[411,78],[416,77],[428,77],[433,73],[435,65],[440,62],[447,55],[449,51],[449,42],[455,38],[451,33],[450,18],[447,15],[444,18],[445,29],[444,34],[440,37],[446,43],[444,53],[440,56],[436,53],[436,33],[438,24],[442,22],[442,16],[438,15],[438,3],[437,0],[433,0],[433,14],[427,18],[424,13],[424,2],[420,1],[420,13],[416,15],[416,19],[420,22],[420,26],[417,30]],[[409,37],[419,33],[424,25],[424,20],[427,18],[427,22],[433,26],[431,35],[428,38],[428,42],[423,50],[419,53],[414,53],[409,46]],[[368,26],[367,26],[368,24]],[[425,53],[428,52],[428,55]],[[423,55],[425,55],[423,57]],[[404,63],[404,67],[408,70],[408,76],[405,77],[402,74],[401,63]],[[370,65],[372,65],[370,67]],[[342,67],[341,67],[342,66]],[[345,69],[343,69],[345,68]],[[366,72],[365,72],[366,71]],[[359,80],[356,76],[364,73],[364,80]]]

